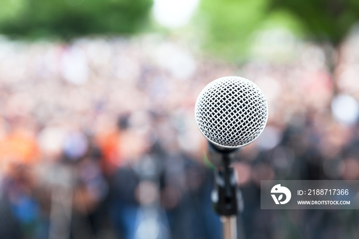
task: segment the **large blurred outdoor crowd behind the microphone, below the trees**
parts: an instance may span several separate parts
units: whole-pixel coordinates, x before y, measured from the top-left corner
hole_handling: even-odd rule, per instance
[[[355,238],[355,212],[260,210],[259,187],[359,179],[358,38],[334,49],[265,32],[241,66],[151,34],[0,38],[0,237],[220,238],[194,104],[209,82],[238,75],[269,106],[264,132],[232,165],[242,234]]]

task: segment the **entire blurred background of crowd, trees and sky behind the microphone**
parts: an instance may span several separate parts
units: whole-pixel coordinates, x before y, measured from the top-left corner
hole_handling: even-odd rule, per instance
[[[359,180],[359,2],[0,0],[0,238],[214,239],[194,104],[251,79],[241,238],[359,238],[355,210],[261,210],[261,180]]]

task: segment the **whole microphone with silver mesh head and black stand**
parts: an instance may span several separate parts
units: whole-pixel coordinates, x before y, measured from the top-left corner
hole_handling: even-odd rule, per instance
[[[211,196],[214,210],[224,217],[224,238],[236,238],[235,215],[243,210],[243,201],[229,165],[233,152],[252,143],[264,130],[267,101],[249,79],[227,76],[201,91],[194,111],[197,126],[209,143],[209,160],[217,167]]]

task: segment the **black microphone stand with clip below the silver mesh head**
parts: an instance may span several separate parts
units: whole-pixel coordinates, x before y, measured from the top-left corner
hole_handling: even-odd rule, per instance
[[[217,168],[214,170],[214,189],[211,199],[214,211],[221,216],[223,239],[237,239],[236,215],[238,209],[238,199],[242,196],[237,191],[237,184],[233,168],[230,168],[231,155],[237,149],[217,149],[209,144],[209,156],[211,162]],[[240,208],[241,207],[241,208]]]

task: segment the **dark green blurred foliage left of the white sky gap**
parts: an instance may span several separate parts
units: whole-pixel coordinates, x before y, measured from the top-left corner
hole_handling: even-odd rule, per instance
[[[0,15],[2,11],[8,12],[6,17],[0,17],[0,33],[65,39],[136,32],[146,23],[152,5],[151,0],[0,0],[0,3]]]

